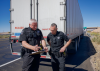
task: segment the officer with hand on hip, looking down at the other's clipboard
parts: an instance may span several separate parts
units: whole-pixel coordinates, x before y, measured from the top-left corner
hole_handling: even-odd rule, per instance
[[[57,25],[51,24],[50,33],[47,36],[47,42],[50,45],[49,54],[51,55],[51,64],[53,71],[65,71],[65,50],[71,43],[71,39],[61,31],[57,31]],[[64,40],[67,42],[64,45]]]

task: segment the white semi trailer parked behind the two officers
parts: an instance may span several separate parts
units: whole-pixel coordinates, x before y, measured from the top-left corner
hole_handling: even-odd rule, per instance
[[[23,28],[29,27],[29,20],[36,19],[38,28],[44,38],[50,32],[50,25],[56,23],[58,31],[64,32],[72,43],[67,52],[73,53],[79,47],[83,35],[83,18],[78,0],[10,0],[10,48],[14,55],[12,44],[18,42]],[[49,48],[49,47],[48,47]],[[48,54],[42,57],[50,57]]]

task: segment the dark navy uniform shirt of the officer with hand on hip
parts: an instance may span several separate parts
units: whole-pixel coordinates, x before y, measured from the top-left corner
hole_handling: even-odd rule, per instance
[[[51,42],[51,51],[58,52],[64,46],[64,40],[67,42],[68,37],[61,31],[57,31],[56,35],[51,33],[47,36],[47,41]]]

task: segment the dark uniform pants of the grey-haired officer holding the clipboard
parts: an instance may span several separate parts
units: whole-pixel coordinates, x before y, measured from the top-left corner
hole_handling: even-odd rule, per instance
[[[25,53],[22,57],[23,66],[22,71],[38,71],[39,63],[40,63],[40,55],[29,55],[29,53]]]

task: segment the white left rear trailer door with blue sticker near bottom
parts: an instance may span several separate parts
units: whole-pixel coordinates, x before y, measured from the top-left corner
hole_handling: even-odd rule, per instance
[[[29,0],[11,0],[11,36],[19,37],[23,28],[29,26],[30,20],[30,1]]]

